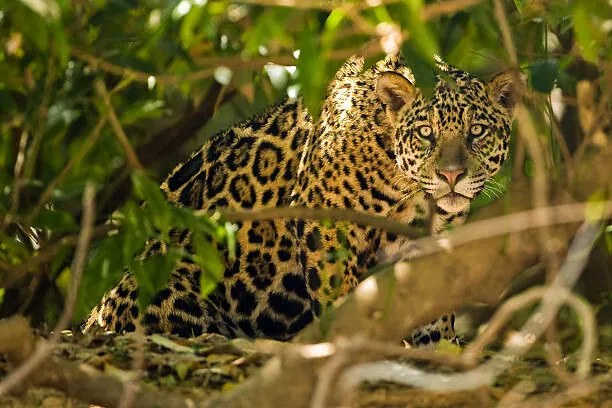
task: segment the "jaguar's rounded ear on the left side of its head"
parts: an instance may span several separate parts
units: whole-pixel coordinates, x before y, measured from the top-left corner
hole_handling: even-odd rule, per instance
[[[376,80],[376,94],[387,107],[387,115],[395,123],[398,112],[416,98],[418,93],[405,77],[395,72],[383,72]]]

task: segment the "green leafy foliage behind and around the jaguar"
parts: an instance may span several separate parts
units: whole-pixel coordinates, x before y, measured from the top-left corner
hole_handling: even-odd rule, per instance
[[[252,3],[0,0],[1,315],[59,304],[53,297],[30,296],[40,288],[22,289],[41,276],[66,289],[69,279],[60,277],[70,272],[87,181],[97,185],[97,224],[112,219],[121,227],[93,243],[80,316],[124,266],[145,295],[163,284],[168,265],[183,254],[172,249],[146,265],[137,256],[144,242],[167,234],[170,226],[194,231],[206,292],[222,275],[214,243],[231,250],[232,226],[168,205],[152,181],[203,138],[298,89],[316,116],[327,83],[353,53],[372,60],[383,51],[401,51],[424,92],[435,81],[433,53],[485,75],[506,65],[491,2],[430,15],[440,2],[347,1],[334,2],[335,8],[309,1],[296,8]],[[573,98],[578,81],[599,78],[598,64],[612,53],[612,8],[605,0],[515,0],[505,8],[554,167],[561,162],[560,144],[575,148],[580,130],[551,136],[549,94],[558,89]],[[108,87],[147,174],[134,172],[126,160],[103,98],[94,91],[96,80]],[[198,126],[178,127],[177,118],[199,110],[207,113]],[[173,131],[183,136],[166,141]],[[166,148],[152,149],[160,144]],[[478,206],[502,195],[512,164],[497,179],[496,193],[483,195]]]

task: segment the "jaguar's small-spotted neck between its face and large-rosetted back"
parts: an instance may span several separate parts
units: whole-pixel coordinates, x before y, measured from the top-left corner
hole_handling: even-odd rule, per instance
[[[412,183],[396,166],[391,131],[373,84],[342,87],[326,100],[302,156],[300,201],[379,215],[396,211]]]

